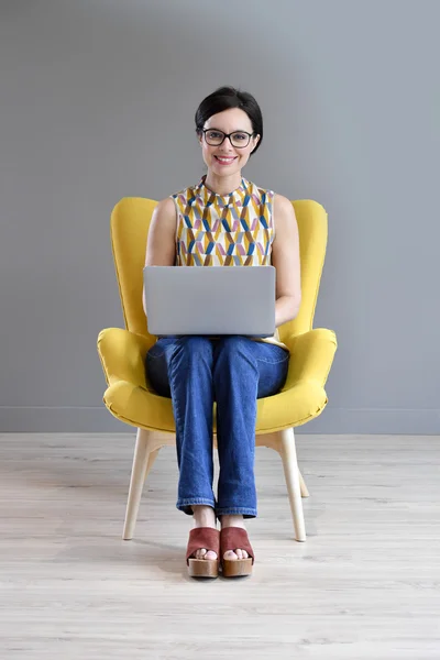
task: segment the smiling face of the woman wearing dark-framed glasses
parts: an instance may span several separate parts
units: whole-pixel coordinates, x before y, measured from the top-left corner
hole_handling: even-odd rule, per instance
[[[208,169],[218,176],[231,176],[240,172],[248,163],[252,150],[255,148],[260,140],[260,135],[252,136],[248,146],[244,147],[233,146],[229,138],[226,138],[222,144],[218,146],[207,143],[206,136],[212,141],[212,138],[217,136],[216,130],[227,134],[235,131],[253,132],[251,120],[244,110],[240,108],[230,108],[229,110],[223,110],[223,112],[212,114],[205,122],[204,129],[210,129],[209,133],[199,136],[204,161]],[[248,139],[244,135],[239,135],[237,140],[240,140],[240,138]]]

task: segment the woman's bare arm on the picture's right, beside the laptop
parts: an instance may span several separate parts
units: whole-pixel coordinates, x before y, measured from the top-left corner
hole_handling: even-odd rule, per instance
[[[276,268],[275,324],[278,327],[292,321],[301,304],[298,223],[287,197],[275,195],[274,221],[272,265]]]

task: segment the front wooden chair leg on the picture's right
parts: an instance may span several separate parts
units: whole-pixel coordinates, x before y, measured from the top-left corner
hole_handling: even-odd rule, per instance
[[[283,459],[284,475],[289,496],[292,516],[294,518],[295,537],[297,541],[306,540],[304,524],[301,488],[299,483],[299,469],[296,458],[294,429],[279,431],[279,453]]]

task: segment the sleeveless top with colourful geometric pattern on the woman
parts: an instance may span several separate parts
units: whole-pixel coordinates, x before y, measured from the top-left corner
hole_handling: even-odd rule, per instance
[[[272,264],[274,191],[242,178],[239,188],[218,195],[206,185],[185,188],[172,199],[177,211],[176,266],[264,266]],[[279,341],[278,330],[271,338]]]

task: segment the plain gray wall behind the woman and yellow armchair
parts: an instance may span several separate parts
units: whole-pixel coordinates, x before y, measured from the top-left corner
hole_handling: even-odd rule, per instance
[[[301,432],[440,432],[437,0],[2,0],[0,430],[130,430],[109,216],[198,180],[198,102],[252,91],[248,178],[329,212],[316,326],[340,349]]]

